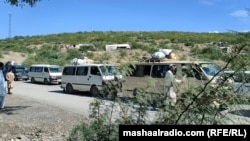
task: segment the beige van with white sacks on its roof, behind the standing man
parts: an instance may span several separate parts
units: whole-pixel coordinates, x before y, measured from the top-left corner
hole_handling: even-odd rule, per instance
[[[216,64],[209,61],[143,61],[136,62],[130,66],[129,74],[123,85],[125,90],[134,90],[142,88],[148,92],[163,93],[165,74],[169,70],[169,65],[176,66],[176,77],[186,79],[190,84],[195,86],[204,84],[211,80],[221,69]],[[218,83],[219,77],[211,80],[211,83]]]

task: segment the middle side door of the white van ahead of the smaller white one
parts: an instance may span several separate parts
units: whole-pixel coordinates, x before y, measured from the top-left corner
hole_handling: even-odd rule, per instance
[[[88,66],[78,66],[76,69],[74,88],[78,91],[89,91]]]

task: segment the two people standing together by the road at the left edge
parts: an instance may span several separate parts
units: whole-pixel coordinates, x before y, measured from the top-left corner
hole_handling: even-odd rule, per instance
[[[13,94],[15,75],[12,70],[14,62],[10,61],[4,64],[0,62],[0,109],[5,106],[5,97],[7,94]]]

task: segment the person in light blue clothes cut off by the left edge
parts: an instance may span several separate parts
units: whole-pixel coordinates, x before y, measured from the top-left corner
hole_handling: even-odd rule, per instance
[[[0,62],[0,109],[4,108],[5,105],[5,96],[7,95],[7,86],[5,77],[3,75],[4,63]]]

